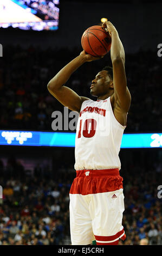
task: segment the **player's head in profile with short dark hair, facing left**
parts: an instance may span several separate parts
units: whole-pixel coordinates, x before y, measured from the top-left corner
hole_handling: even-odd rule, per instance
[[[90,86],[90,94],[93,96],[102,96],[114,92],[113,86],[113,68],[111,66],[105,66],[92,80]]]

